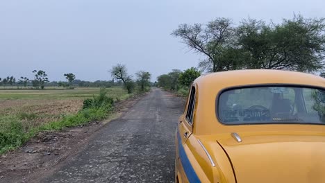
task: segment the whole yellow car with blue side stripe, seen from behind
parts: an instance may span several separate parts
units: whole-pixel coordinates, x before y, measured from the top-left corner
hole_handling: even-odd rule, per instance
[[[325,79],[242,70],[194,80],[176,182],[325,182]]]

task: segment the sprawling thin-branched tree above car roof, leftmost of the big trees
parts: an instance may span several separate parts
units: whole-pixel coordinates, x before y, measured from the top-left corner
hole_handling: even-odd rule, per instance
[[[224,71],[227,68],[219,60],[222,48],[231,44],[234,34],[231,19],[217,18],[205,27],[202,24],[181,24],[172,35],[180,37],[184,44],[196,53],[206,55],[199,67],[210,71]]]

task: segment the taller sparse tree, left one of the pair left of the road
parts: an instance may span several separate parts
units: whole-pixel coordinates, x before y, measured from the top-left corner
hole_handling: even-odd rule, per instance
[[[124,87],[128,90],[128,94],[133,92],[135,84],[132,80],[132,76],[128,75],[128,70],[124,64],[117,64],[110,70],[110,74],[117,80],[122,80]]]

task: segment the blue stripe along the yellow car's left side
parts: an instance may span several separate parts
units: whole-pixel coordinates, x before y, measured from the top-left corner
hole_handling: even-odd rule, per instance
[[[179,157],[181,158],[181,162],[185,171],[186,176],[188,177],[189,182],[201,182],[199,177],[197,177],[197,173],[195,173],[192,164],[190,163],[190,159],[185,153],[185,150],[182,146],[181,136],[177,130],[177,139],[178,139],[178,151]]]

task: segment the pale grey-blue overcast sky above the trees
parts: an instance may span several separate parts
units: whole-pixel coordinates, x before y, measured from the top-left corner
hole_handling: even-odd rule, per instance
[[[108,80],[126,64],[153,80],[172,69],[197,67],[200,55],[170,33],[183,23],[229,17],[275,22],[295,13],[325,17],[323,0],[40,0],[0,1],[0,77],[47,71],[50,80],[75,73],[81,80]]]

